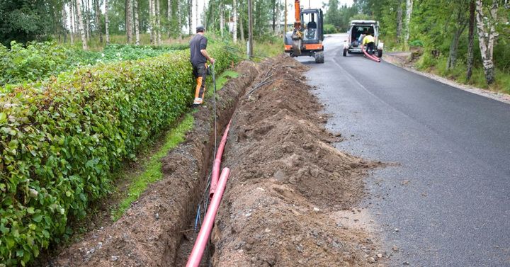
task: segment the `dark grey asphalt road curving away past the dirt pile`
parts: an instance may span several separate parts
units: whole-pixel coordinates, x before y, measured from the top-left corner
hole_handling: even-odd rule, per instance
[[[298,60],[312,68],[328,127],[346,137],[336,147],[397,163],[367,179],[363,203],[389,265],[510,266],[510,105],[342,57],[345,38],[324,40],[324,64]]]

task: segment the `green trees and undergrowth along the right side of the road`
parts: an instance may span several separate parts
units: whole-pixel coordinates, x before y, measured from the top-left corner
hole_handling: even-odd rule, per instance
[[[414,66],[463,84],[510,93],[510,4],[497,0],[329,1],[326,22],[380,22],[385,50],[413,51]],[[479,14],[479,16],[477,15]]]

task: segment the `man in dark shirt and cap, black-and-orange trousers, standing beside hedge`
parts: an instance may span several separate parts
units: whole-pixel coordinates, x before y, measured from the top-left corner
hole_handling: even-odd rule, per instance
[[[196,35],[191,38],[190,41],[190,61],[193,65],[193,76],[195,76],[197,85],[195,90],[195,100],[193,106],[199,106],[203,103],[205,94],[205,77],[208,74],[209,61],[211,64],[215,63],[215,59],[209,56],[207,52],[207,38],[204,36],[204,26],[198,26],[196,28]]]

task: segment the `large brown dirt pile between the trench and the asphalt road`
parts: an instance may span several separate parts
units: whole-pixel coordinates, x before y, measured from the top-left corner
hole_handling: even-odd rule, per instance
[[[377,164],[339,152],[322,106],[287,56],[238,103],[224,163],[232,169],[212,242],[214,266],[368,266],[378,263],[370,235],[345,218]],[[358,219],[356,219],[358,221]],[[380,263],[380,262],[379,262]]]

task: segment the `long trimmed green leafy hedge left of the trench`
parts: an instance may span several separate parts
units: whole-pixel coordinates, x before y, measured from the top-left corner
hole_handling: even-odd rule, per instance
[[[216,72],[233,57],[210,48]],[[189,51],[104,64],[0,96],[0,266],[25,265],[193,100]]]

